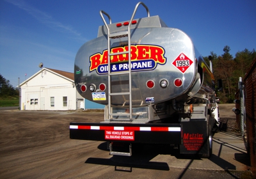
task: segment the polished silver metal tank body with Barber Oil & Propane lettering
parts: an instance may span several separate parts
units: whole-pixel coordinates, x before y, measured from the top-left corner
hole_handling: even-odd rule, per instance
[[[117,27],[117,24],[124,22],[109,24],[111,32],[124,31],[125,27]],[[111,51],[127,51],[127,39],[111,40]],[[129,90],[128,75],[115,75],[108,84],[107,56],[107,31],[106,27],[100,26],[98,37],[84,43],[77,52],[74,68],[77,91],[84,98],[104,105],[108,105],[108,85],[111,85],[111,93]],[[167,27],[158,16],[136,19],[136,24],[131,25],[131,62],[133,107],[172,99],[187,103],[206,102],[214,93],[212,72],[191,38],[180,29]],[[127,65],[125,54],[111,58],[111,72],[127,70]],[[163,80],[167,82],[166,87],[160,86]],[[95,86],[93,91],[89,89],[91,84]],[[106,85],[104,91],[100,90],[100,84]],[[104,93],[104,97],[95,98],[95,92]],[[111,98],[115,106],[129,105],[127,95]]]

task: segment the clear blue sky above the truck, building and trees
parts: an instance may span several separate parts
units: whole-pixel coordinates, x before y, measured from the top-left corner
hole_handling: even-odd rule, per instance
[[[150,15],[187,33],[202,56],[256,49],[255,0],[141,0]],[[139,1],[0,0],[0,74],[13,86],[44,67],[74,71],[76,52],[97,37],[104,10],[112,22],[131,19]],[[139,6],[135,19],[146,17]],[[27,76],[25,76],[27,74]]]

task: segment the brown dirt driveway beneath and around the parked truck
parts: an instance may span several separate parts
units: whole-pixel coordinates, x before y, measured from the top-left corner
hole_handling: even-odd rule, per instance
[[[220,106],[223,117],[230,121],[235,119],[231,109]],[[0,111],[0,178],[251,177],[248,161],[238,167],[239,162],[218,160],[217,151],[210,160],[182,159],[163,148],[148,146],[145,152],[127,158],[109,155],[106,143],[69,139],[71,121],[103,119],[104,113],[99,111]],[[218,143],[215,146],[220,147]],[[227,164],[226,169],[221,162]]]

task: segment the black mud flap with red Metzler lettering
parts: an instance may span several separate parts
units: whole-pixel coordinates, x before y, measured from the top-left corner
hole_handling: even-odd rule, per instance
[[[182,121],[180,153],[206,156],[210,153],[207,121]],[[211,130],[211,129],[210,129]]]

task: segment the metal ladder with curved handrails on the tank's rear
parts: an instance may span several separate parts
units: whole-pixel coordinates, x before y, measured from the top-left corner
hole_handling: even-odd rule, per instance
[[[138,4],[136,4],[135,8],[134,8],[134,12],[132,13],[132,17],[131,20],[129,22],[129,26],[127,31],[122,31],[122,32],[118,32],[118,33],[111,33],[108,27],[108,24],[106,23],[106,20],[103,17],[103,14],[106,15],[109,19],[109,24],[111,24],[111,18],[108,15],[108,13],[104,12],[104,11],[100,11],[100,16],[108,30],[108,118],[109,120],[113,118],[113,116],[129,116],[130,120],[132,120],[132,80],[131,80],[131,22],[134,18],[134,15],[138,9],[138,6],[142,4],[145,9],[147,10],[147,15],[148,17],[150,17],[149,11],[147,6],[140,2]],[[127,37],[128,38],[128,51],[124,51],[124,52],[116,52],[116,53],[111,53],[111,49],[110,49],[110,40],[111,38],[123,38],[123,37]],[[115,56],[115,55],[120,55],[120,54],[128,54],[128,64],[129,64],[129,70],[125,71],[125,72],[111,72],[111,56]],[[114,75],[129,75],[129,92],[118,92],[118,93],[112,93],[111,92],[111,76]],[[129,95],[129,113],[111,113],[111,97],[112,96],[117,96],[117,95]]]

